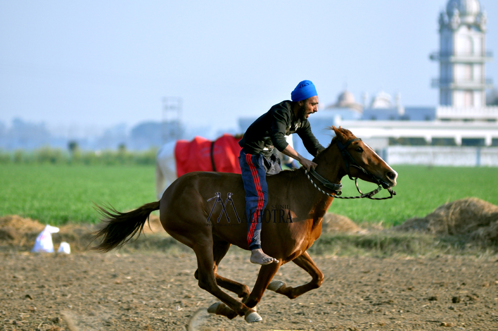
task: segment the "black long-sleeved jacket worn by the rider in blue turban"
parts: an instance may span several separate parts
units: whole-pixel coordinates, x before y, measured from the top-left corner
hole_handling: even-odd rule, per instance
[[[255,120],[239,141],[239,145],[247,154],[262,154],[268,158],[273,148],[282,152],[289,145],[285,136],[293,133],[301,137],[304,147],[312,156],[315,157],[325,149],[311,132],[308,120],[301,121],[294,116],[289,100],[274,105]]]

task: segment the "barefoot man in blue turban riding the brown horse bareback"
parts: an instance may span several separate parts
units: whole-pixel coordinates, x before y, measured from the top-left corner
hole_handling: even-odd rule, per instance
[[[309,171],[317,164],[299,155],[285,141],[285,137],[297,133],[306,150],[314,157],[325,149],[311,132],[307,120],[310,114],[317,112],[318,94],[315,85],[309,80],[303,80],[292,91],[291,99],[292,101],[286,100],[274,105],[261,115],[249,126],[239,142],[242,147],[239,163],[246,191],[250,262],[260,265],[278,262],[262,251],[260,240],[261,216],[268,201],[265,176],[282,170],[280,161],[271,153],[272,150],[276,148]]]

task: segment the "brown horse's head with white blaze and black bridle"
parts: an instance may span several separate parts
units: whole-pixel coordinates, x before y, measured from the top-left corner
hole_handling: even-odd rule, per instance
[[[343,170],[346,174],[379,183],[383,188],[396,185],[397,172],[385,163],[370,146],[356,138],[349,130],[334,126],[331,129],[336,134],[331,145],[336,144],[341,151]]]

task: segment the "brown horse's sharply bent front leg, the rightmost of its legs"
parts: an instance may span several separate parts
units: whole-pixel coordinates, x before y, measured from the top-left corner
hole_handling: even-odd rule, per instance
[[[292,260],[292,262],[306,270],[312,277],[311,281],[298,287],[287,286],[285,282],[281,281],[273,281],[268,285],[268,290],[283,294],[289,299],[295,299],[301,294],[317,289],[322,285],[324,279],[323,273],[318,269],[307,252],[304,252],[302,255]]]

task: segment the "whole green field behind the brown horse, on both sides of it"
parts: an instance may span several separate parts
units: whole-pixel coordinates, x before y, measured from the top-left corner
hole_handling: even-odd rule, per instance
[[[498,168],[395,166],[397,195],[390,200],[335,199],[329,211],[357,222],[394,225],[424,216],[437,206],[475,196],[498,204]],[[343,179],[344,193],[357,195]],[[360,182],[367,192],[374,188]],[[92,201],[118,210],[155,200],[150,165],[0,165],[0,215],[18,214],[42,223],[97,222]],[[386,194],[383,190],[379,195]]]

